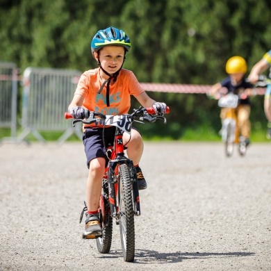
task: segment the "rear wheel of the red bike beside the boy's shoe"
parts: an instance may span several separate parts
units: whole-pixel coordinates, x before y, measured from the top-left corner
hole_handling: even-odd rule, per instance
[[[103,192],[100,198],[100,217],[102,236],[96,239],[98,251],[106,254],[110,251],[112,242],[113,218],[110,215],[108,199],[108,180],[103,179]]]

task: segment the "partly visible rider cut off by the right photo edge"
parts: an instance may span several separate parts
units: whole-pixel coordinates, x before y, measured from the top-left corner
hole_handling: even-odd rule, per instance
[[[271,50],[265,53],[263,58],[259,60],[253,67],[248,76],[249,82],[256,83],[258,76],[264,72],[268,67],[271,67]],[[271,74],[271,71],[270,71]],[[268,131],[266,137],[271,139],[271,85],[268,85],[265,91],[264,111],[265,117],[268,119]]]

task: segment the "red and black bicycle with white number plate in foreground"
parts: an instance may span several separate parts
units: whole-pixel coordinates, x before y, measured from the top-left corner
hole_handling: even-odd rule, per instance
[[[166,113],[170,112],[167,107]],[[72,118],[72,115],[65,113],[65,118]],[[135,226],[134,216],[140,215],[140,197],[138,192],[138,179],[133,161],[124,154],[122,142],[123,132],[131,135],[131,124],[136,122],[155,122],[161,119],[166,123],[163,116],[156,115],[154,108],[134,109],[131,115],[103,115],[98,112],[85,110],[83,120],[73,120],[92,124],[103,122],[105,126],[115,126],[114,145],[107,147],[108,166],[104,172],[102,191],[99,204],[99,219],[101,222],[102,236],[84,236],[83,238],[96,238],[97,248],[100,253],[106,254],[110,251],[113,233],[113,218],[116,224],[120,225],[120,237],[122,243],[122,254],[124,261],[131,262],[135,257]],[[80,222],[83,218],[81,213]]]

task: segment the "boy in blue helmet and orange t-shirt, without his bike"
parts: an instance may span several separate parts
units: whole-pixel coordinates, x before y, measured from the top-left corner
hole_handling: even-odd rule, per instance
[[[153,107],[156,114],[163,115],[166,105],[151,99],[143,90],[133,72],[122,69],[126,53],[131,48],[129,37],[124,31],[108,27],[98,31],[90,44],[92,56],[99,65],[81,75],[74,98],[69,104],[69,113],[74,119],[82,119],[84,109],[97,111],[104,115],[126,114],[131,106],[133,95],[144,107]],[[86,202],[88,206],[85,220],[85,236],[101,236],[99,222],[99,199],[101,195],[102,178],[108,158],[102,133],[104,125],[83,124],[83,144],[88,165],[88,181],[86,186]],[[104,135],[106,144],[113,145],[115,127],[106,126]],[[143,141],[139,131],[132,129],[131,137],[123,135],[127,155],[136,167],[138,188],[146,189],[147,183],[138,166],[143,152]]]

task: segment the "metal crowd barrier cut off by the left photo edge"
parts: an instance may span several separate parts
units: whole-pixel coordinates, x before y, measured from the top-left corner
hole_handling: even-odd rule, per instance
[[[10,128],[12,138],[17,133],[17,67],[0,62],[0,127]]]

